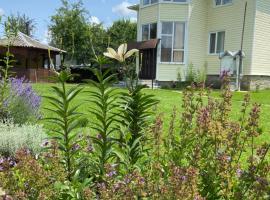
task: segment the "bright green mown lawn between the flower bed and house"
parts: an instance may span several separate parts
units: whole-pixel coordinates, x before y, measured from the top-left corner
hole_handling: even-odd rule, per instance
[[[50,86],[53,84],[33,84],[34,89],[38,92],[38,94],[42,96],[50,95],[51,89]],[[71,85],[69,85],[70,87]],[[85,86],[84,91],[89,91],[92,88],[89,86]],[[120,90],[120,89],[119,89]],[[170,121],[170,115],[172,112],[172,109],[174,106],[177,107],[178,111],[181,110],[181,98],[182,93],[181,91],[175,91],[175,90],[151,90],[151,89],[145,89],[145,92],[148,94],[153,94],[156,96],[157,99],[160,100],[160,104],[157,107],[157,113],[163,113],[164,115],[164,130],[166,133],[166,130],[169,126]],[[239,112],[241,109],[241,104],[243,97],[246,92],[234,92],[233,94],[233,109],[231,113],[231,117],[234,119],[238,119]],[[213,96],[216,98],[219,98],[219,91],[213,92]],[[82,104],[80,107],[80,111],[83,113],[89,113],[89,103],[86,103],[86,100],[89,98],[88,94],[81,93],[79,97],[77,98],[77,102],[79,104]],[[252,102],[258,102],[262,105],[262,114],[261,114],[261,127],[263,128],[264,134],[259,138],[258,142],[263,141],[270,141],[270,90],[260,91],[260,92],[251,92],[251,101]],[[42,107],[46,107],[48,105],[48,102],[43,99]],[[48,113],[45,112],[44,109],[42,109],[43,115],[48,116]],[[88,118],[90,119],[90,122],[92,119],[90,114],[87,114]],[[178,115],[178,118],[180,115]]]

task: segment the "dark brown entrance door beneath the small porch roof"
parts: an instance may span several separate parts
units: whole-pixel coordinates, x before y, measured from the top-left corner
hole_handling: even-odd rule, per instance
[[[156,79],[157,49],[140,50],[139,78],[144,80]]]

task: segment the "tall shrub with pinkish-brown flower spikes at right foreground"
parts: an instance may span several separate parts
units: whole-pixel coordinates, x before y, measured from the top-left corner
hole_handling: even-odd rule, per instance
[[[184,92],[180,135],[172,136],[168,158],[198,170],[200,194],[207,199],[267,199],[270,145],[255,146],[261,134],[260,105],[250,105],[247,94],[239,120],[232,120],[227,76],[223,82],[221,100],[208,93],[205,102],[205,91],[195,92],[194,86]]]

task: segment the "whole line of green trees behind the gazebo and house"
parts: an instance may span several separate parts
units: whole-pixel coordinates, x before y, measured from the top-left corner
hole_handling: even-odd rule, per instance
[[[121,43],[135,41],[137,25],[127,19],[115,21],[111,27],[90,22],[90,13],[81,0],[71,3],[61,0],[62,5],[51,16],[49,24],[50,45],[67,51],[65,61],[72,64],[91,64],[94,51],[102,54],[108,46],[117,48]],[[34,19],[17,13],[7,17],[9,26],[33,36],[36,29]],[[15,30],[16,29],[16,30]]]

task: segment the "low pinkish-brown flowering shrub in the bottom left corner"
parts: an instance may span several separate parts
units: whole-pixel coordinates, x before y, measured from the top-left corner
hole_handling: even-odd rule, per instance
[[[58,163],[59,157],[53,152],[37,160],[27,149],[21,149],[14,158],[2,158],[0,187],[15,199],[58,199],[54,184],[64,177]]]

